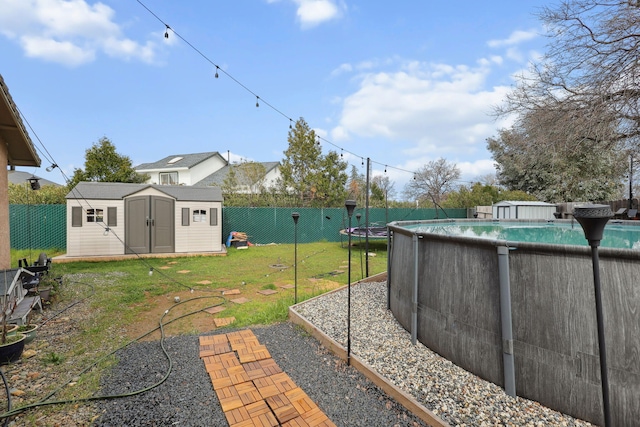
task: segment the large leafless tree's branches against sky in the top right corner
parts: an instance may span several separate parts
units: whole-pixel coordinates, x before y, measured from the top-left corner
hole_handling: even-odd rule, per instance
[[[520,76],[498,115],[552,111],[565,143],[595,138],[637,149],[640,136],[640,7],[629,0],[565,0],[545,7],[545,56]],[[556,122],[558,123],[558,122]],[[611,124],[615,123],[612,134]],[[584,137],[588,134],[588,137]]]

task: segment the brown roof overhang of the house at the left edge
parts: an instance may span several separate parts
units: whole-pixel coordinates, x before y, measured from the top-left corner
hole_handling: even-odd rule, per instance
[[[9,165],[40,166],[40,157],[22,123],[18,107],[0,75],[0,140],[7,144]]]

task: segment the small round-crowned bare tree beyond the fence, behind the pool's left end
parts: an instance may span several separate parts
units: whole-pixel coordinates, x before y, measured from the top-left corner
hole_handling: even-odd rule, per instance
[[[454,190],[460,178],[460,169],[443,158],[432,160],[420,168],[414,179],[404,187],[409,200],[440,204],[446,193]]]

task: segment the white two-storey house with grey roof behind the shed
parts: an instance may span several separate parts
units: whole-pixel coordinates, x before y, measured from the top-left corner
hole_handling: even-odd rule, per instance
[[[134,169],[150,176],[147,182],[159,185],[194,185],[227,161],[217,151],[196,154],[176,154],[153,163],[143,163]]]

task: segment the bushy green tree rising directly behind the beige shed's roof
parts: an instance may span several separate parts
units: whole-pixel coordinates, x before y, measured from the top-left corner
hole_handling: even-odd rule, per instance
[[[81,181],[143,183],[149,175],[139,174],[133,169],[128,156],[118,154],[107,137],[102,137],[85,151],[84,170],[75,169],[68,188]]]

